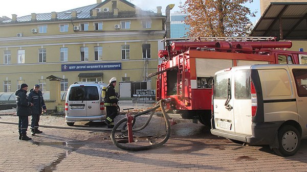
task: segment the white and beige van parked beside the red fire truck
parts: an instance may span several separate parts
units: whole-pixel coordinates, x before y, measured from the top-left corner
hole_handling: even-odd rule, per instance
[[[294,155],[307,138],[307,65],[238,66],[215,73],[213,135],[250,145],[269,144]]]

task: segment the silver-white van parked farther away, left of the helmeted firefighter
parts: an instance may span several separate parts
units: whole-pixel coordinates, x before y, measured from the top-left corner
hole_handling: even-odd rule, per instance
[[[103,99],[107,84],[102,82],[76,82],[72,84],[65,100],[65,122],[73,126],[75,121],[103,121],[106,108]],[[105,91],[105,90],[104,90]]]

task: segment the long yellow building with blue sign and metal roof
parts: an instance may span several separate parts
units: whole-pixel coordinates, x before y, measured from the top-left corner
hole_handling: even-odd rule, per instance
[[[0,92],[14,92],[21,83],[50,91],[50,75],[64,79],[61,90],[78,81],[108,83],[112,77],[139,82],[134,89],[155,89],[155,81],[150,84],[144,77],[157,71],[165,19],[161,7],[157,13],[143,11],[125,0],[13,14],[0,20]]]

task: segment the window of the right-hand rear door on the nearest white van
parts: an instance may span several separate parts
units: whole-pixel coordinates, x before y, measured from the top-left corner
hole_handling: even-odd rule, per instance
[[[251,99],[250,70],[238,70],[235,72],[234,98]]]

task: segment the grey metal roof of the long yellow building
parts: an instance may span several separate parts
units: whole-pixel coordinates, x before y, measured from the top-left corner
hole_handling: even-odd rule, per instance
[[[62,11],[62,12],[57,12],[57,18],[56,20],[72,20],[72,15],[71,13],[73,11],[77,12],[77,18],[75,18],[74,20],[84,20],[84,19],[93,19],[91,17],[91,11],[93,9],[99,8],[101,6],[103,6],[104,4],[108,3],[109,1],[112,0],[106,0],[102,3],[99,4],[93,4],[93,5],[89,5],[89,6],[84,6],[84,7],[79,7],[79,8],[75,8],[75,9],[71,9],[71,10],[67,10],[67,11]],[[127,4],[128,6],[131,6],[133,8],[138,8],[137,6],[125,1],[125,0],[118,0],[121,1],[125,4]],[[151,12],[151,11],[143,11],[140,10],[140,14],[139,15],[143,15],[143,16],[151,16],[151,17],[155,17],[158,16],[157,13]],[[32,15],[26,15],[26,16],[21,16],[21,17],[17,17],[17,23],[20,22],[32,22],[31,21],[31,17]],[[136,17],[136,12],[135,11],[118,11],[118,16],[116,18],[126,18],[126,17]],[[161,16],[161,15],[160,15]],[[97,13],[97,17],[95,18],[115,18],[114,16],[114,12],[113,11],[108,11],[108,12],[99,12]],[[4,20],[1,22],[0,20],[0,24],[4,24],[4,23],[11,23],[11,19],[8,20]],[[51,13],[38,13],[36,14],[36,21],[35,22],[46,22],[46,21],[51,21]]]

